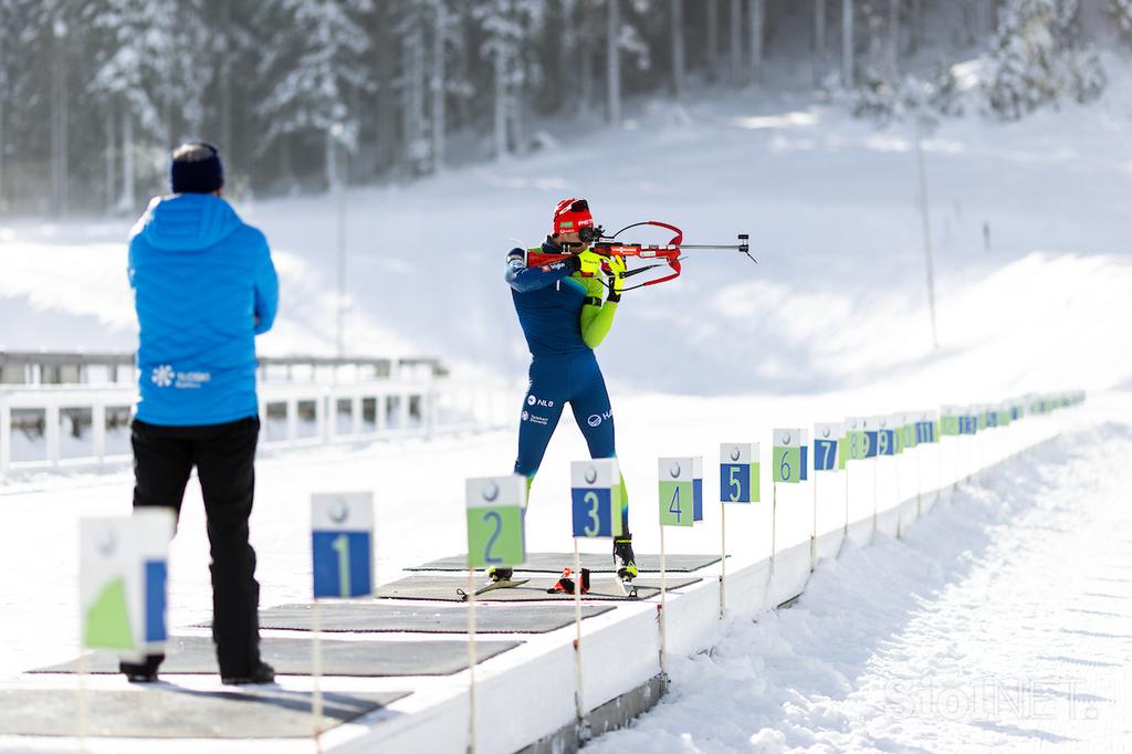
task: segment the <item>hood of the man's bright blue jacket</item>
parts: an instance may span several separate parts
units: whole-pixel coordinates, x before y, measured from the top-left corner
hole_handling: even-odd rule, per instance
[[[154,248],[192,251],[220,243],[241,224],[232,205],[218,196],[174,194],[155,197],[135,232]]]

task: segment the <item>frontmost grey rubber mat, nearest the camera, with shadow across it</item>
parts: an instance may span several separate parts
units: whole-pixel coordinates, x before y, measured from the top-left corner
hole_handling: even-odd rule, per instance
[[[411,692],[324,693],[320,730],[381,709]],[[115,738],[308,738],[312,695],[281,688],[204,692],[154,684],[89,691],[84,735]],[[74,689],[0,691],[0,736],[77,736]]]

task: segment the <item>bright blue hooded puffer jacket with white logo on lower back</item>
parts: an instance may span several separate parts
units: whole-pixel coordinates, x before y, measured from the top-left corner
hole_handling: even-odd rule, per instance
[[[278,279],[267,239],[211,194],[157,197],[130,231],[142,421],[173,427],[254,417],[256,335]]]

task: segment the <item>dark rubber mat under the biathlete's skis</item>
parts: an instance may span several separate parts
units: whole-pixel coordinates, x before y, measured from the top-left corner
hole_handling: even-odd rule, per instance
[[[552,586],[557,579],[548,576],[535,576],[522,586],[513,589],[496,589],[477,597],[479,602],[537,602],[537,601],[572,601],[573,594],[557,592],[548,594],[547,589]],[[694,584],[700,579],[669,579],[668,590],[680,589],[688,584]],[[649,599],[660,594],[659,579],[637,579],[637,597]],[[457,589],[468,589],[468,579],[464,576],[449,575],[427,575],[413,574],[391,584],[385,584],[377,590],[378,597],[401,600],[444,600],[447,602],[461,602],[463,598],[456,592]],[[627,600],[617,592],[614,579],[594,579],[590,593],[582,596],[583,600]]]

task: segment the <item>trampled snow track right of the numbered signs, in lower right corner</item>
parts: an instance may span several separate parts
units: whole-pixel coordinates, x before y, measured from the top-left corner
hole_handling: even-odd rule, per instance
[[[1104,423],[945,494],[670,658],[670,694],[586,751],[1132,751],[1129,453]]]

